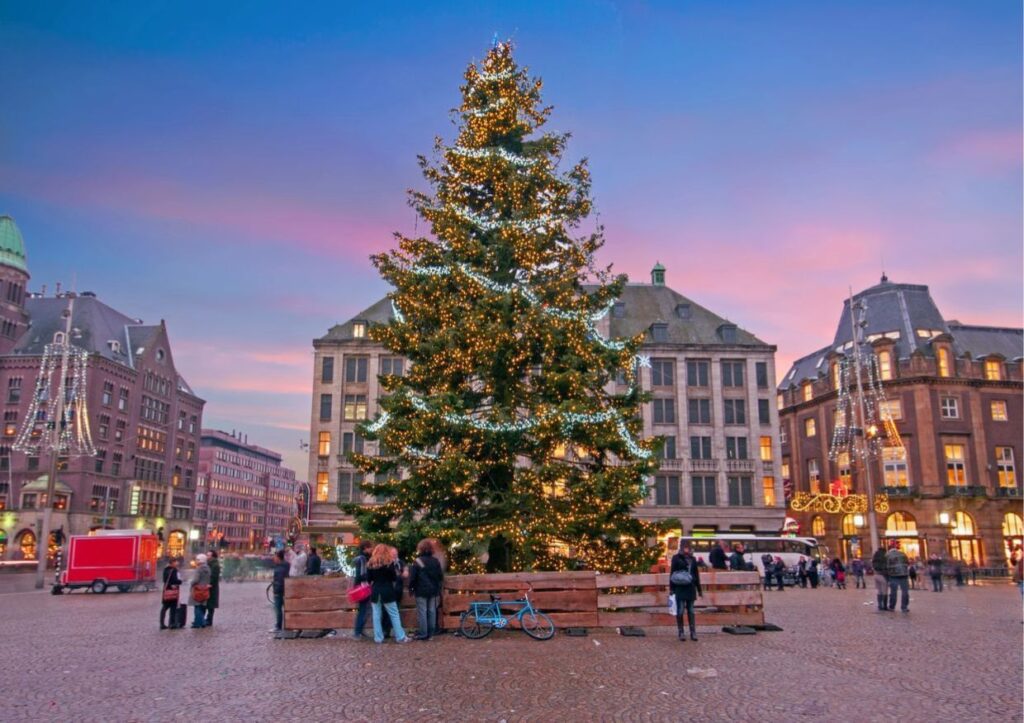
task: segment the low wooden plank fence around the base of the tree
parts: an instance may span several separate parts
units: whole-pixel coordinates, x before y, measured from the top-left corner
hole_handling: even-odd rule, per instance
[[[703,570],[703,598],[695,603],[697,625],[764,625],[764,599],[757,572]],[[289,578],[285,582],[286,630],[350,630],[356,606],[345,595],[347,578]],[[504,572],[456,575],[444,578],[442,625],[459,627],[460,615],[472,602],[520,599],[529,592],[537,609],[558,628],[618,628],[674,626],[668,612],[668,573],[609,575],[583,572]],[[515,607],[509,605],[509,612]],[[402,626],[416,626],[415,600],[406,595]],[[370,621],[367,621],[368,628]]]

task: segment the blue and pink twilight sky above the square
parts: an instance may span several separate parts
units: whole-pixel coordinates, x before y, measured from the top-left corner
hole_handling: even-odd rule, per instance
[[[1022,326],[1016,0],[0,2],[0,213],[30,288],[166,320],[204,426],[300,477],[312,340],[387,291],[416,156],[493,38],[586,157],[598,260],[778,347],[927,284]],[[420,228],[422,231],[422,227]]]

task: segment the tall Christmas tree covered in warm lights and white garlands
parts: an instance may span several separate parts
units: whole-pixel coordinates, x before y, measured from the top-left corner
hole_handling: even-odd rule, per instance
[[[381,504],[344,509],[402,551],[439,538],[456,571],[646,570],[659,527],[631,515],[655,468],[637,438],[646,359],[641,338],[596,329],[626,280],[595,266],[590,173],[559,172],[568,135],[539,132],[541,85],[508,43],[469,66],[457,138],[420,158],[432,193],[411,197],[431,237],[373,257],[394,318],[370,335],[411,365],[381,377],[360,430],[378,455],[351,456]]]

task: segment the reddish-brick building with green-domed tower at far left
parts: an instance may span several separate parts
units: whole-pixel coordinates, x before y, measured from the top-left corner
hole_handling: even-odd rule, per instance
[[[11,233],[0,237],[10,246]],[[17,237],[20,242],[20,236]],[[44,347],[62,338],[72,308],[72,339],[88,352],[84,398],[95,457],[59,461],[54,529],[82,534],[134,527],[159,531],[168,552],[180,553],[191,529],[204,401],[174,366],[164,322],[145,325],[111,308],[95,294],[30,294],[20,252],[0,250],[0,317],[20,330],[0,353],[4,426],[0,441],[0,558],[34,558],[37,523],[46,501],[50,459],[12,449],[18,433],[49,433],[49,400],[28,419]],[[10,264],[14,265],[11,266]],[[11,285],[18,291],[8,293]],[[19,301],[24,303],[18,307]],[[25,318],[22,326],[19,318]],[[0,330],[0,340],[4,338]],[[0,348],[6,342],[0,342]],[[55,383],[56,380],[54,380]]]

